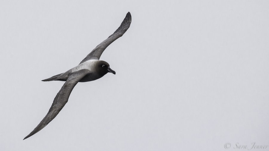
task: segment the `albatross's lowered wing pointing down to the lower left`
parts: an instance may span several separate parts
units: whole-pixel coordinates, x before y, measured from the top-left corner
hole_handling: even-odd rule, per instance
[[[68,98],[71,94],[71,91],[73,90],[75,85],[88,73],[89,73],[89,70],[82,69],[82,70],[72,73],[68,77],[65,84],[62,86],[61,90],[58,92],[58,94],[54,98],[54,101],[51,105],[50,110],[48,111],[48,114],[37,125],[37,127],[29,135],[27,135],[23,140],[25,140],[26,138],[42,130],[42,128],[48,125],[49,122],[51,122],[57,116],[57,114],[62,110],[62,108],[67,103]]]

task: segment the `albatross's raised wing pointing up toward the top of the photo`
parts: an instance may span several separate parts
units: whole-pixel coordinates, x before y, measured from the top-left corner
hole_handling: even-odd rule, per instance
[[[123,19],[122,23],[120,24],[120,27],[111,35],[109,36],[105,41],[101,42],[94,50],[89,53],[86,58],[84,58],[80,64],[82,64],[85,61],[88,60],[99,60],[100,56],[113,41],[115,41],[117,38],[120,38],[130,27],[132,21],[131,13],[128,12],[126,14],[126,17]]]

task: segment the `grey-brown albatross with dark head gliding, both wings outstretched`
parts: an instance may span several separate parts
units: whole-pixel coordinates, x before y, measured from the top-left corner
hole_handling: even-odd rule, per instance
[[[42,121],[36,126],[36,128],[30,132],[23,140],[29,138],[30,136],[36,134],[47,126],[62,110],[68,101],[71,91],[76,86],[78,82],[88,82],[99,79],[106,75],[107,73],[116,74],[112,70],[106,61],[99,60],[103,51],[117,38],[123,36],[123,34],[129,29],[132,21],[131,13],[128,12],[126,17],[123,19],[120,27],[106,40],[101,42],[97,47],[95,47],[81,62],[74,68],[66,71],[65,73],[52,76],[42,81],[65,81],[61,90],[57,93],[54,101],[49,109],[47,115],[42,119]]]

